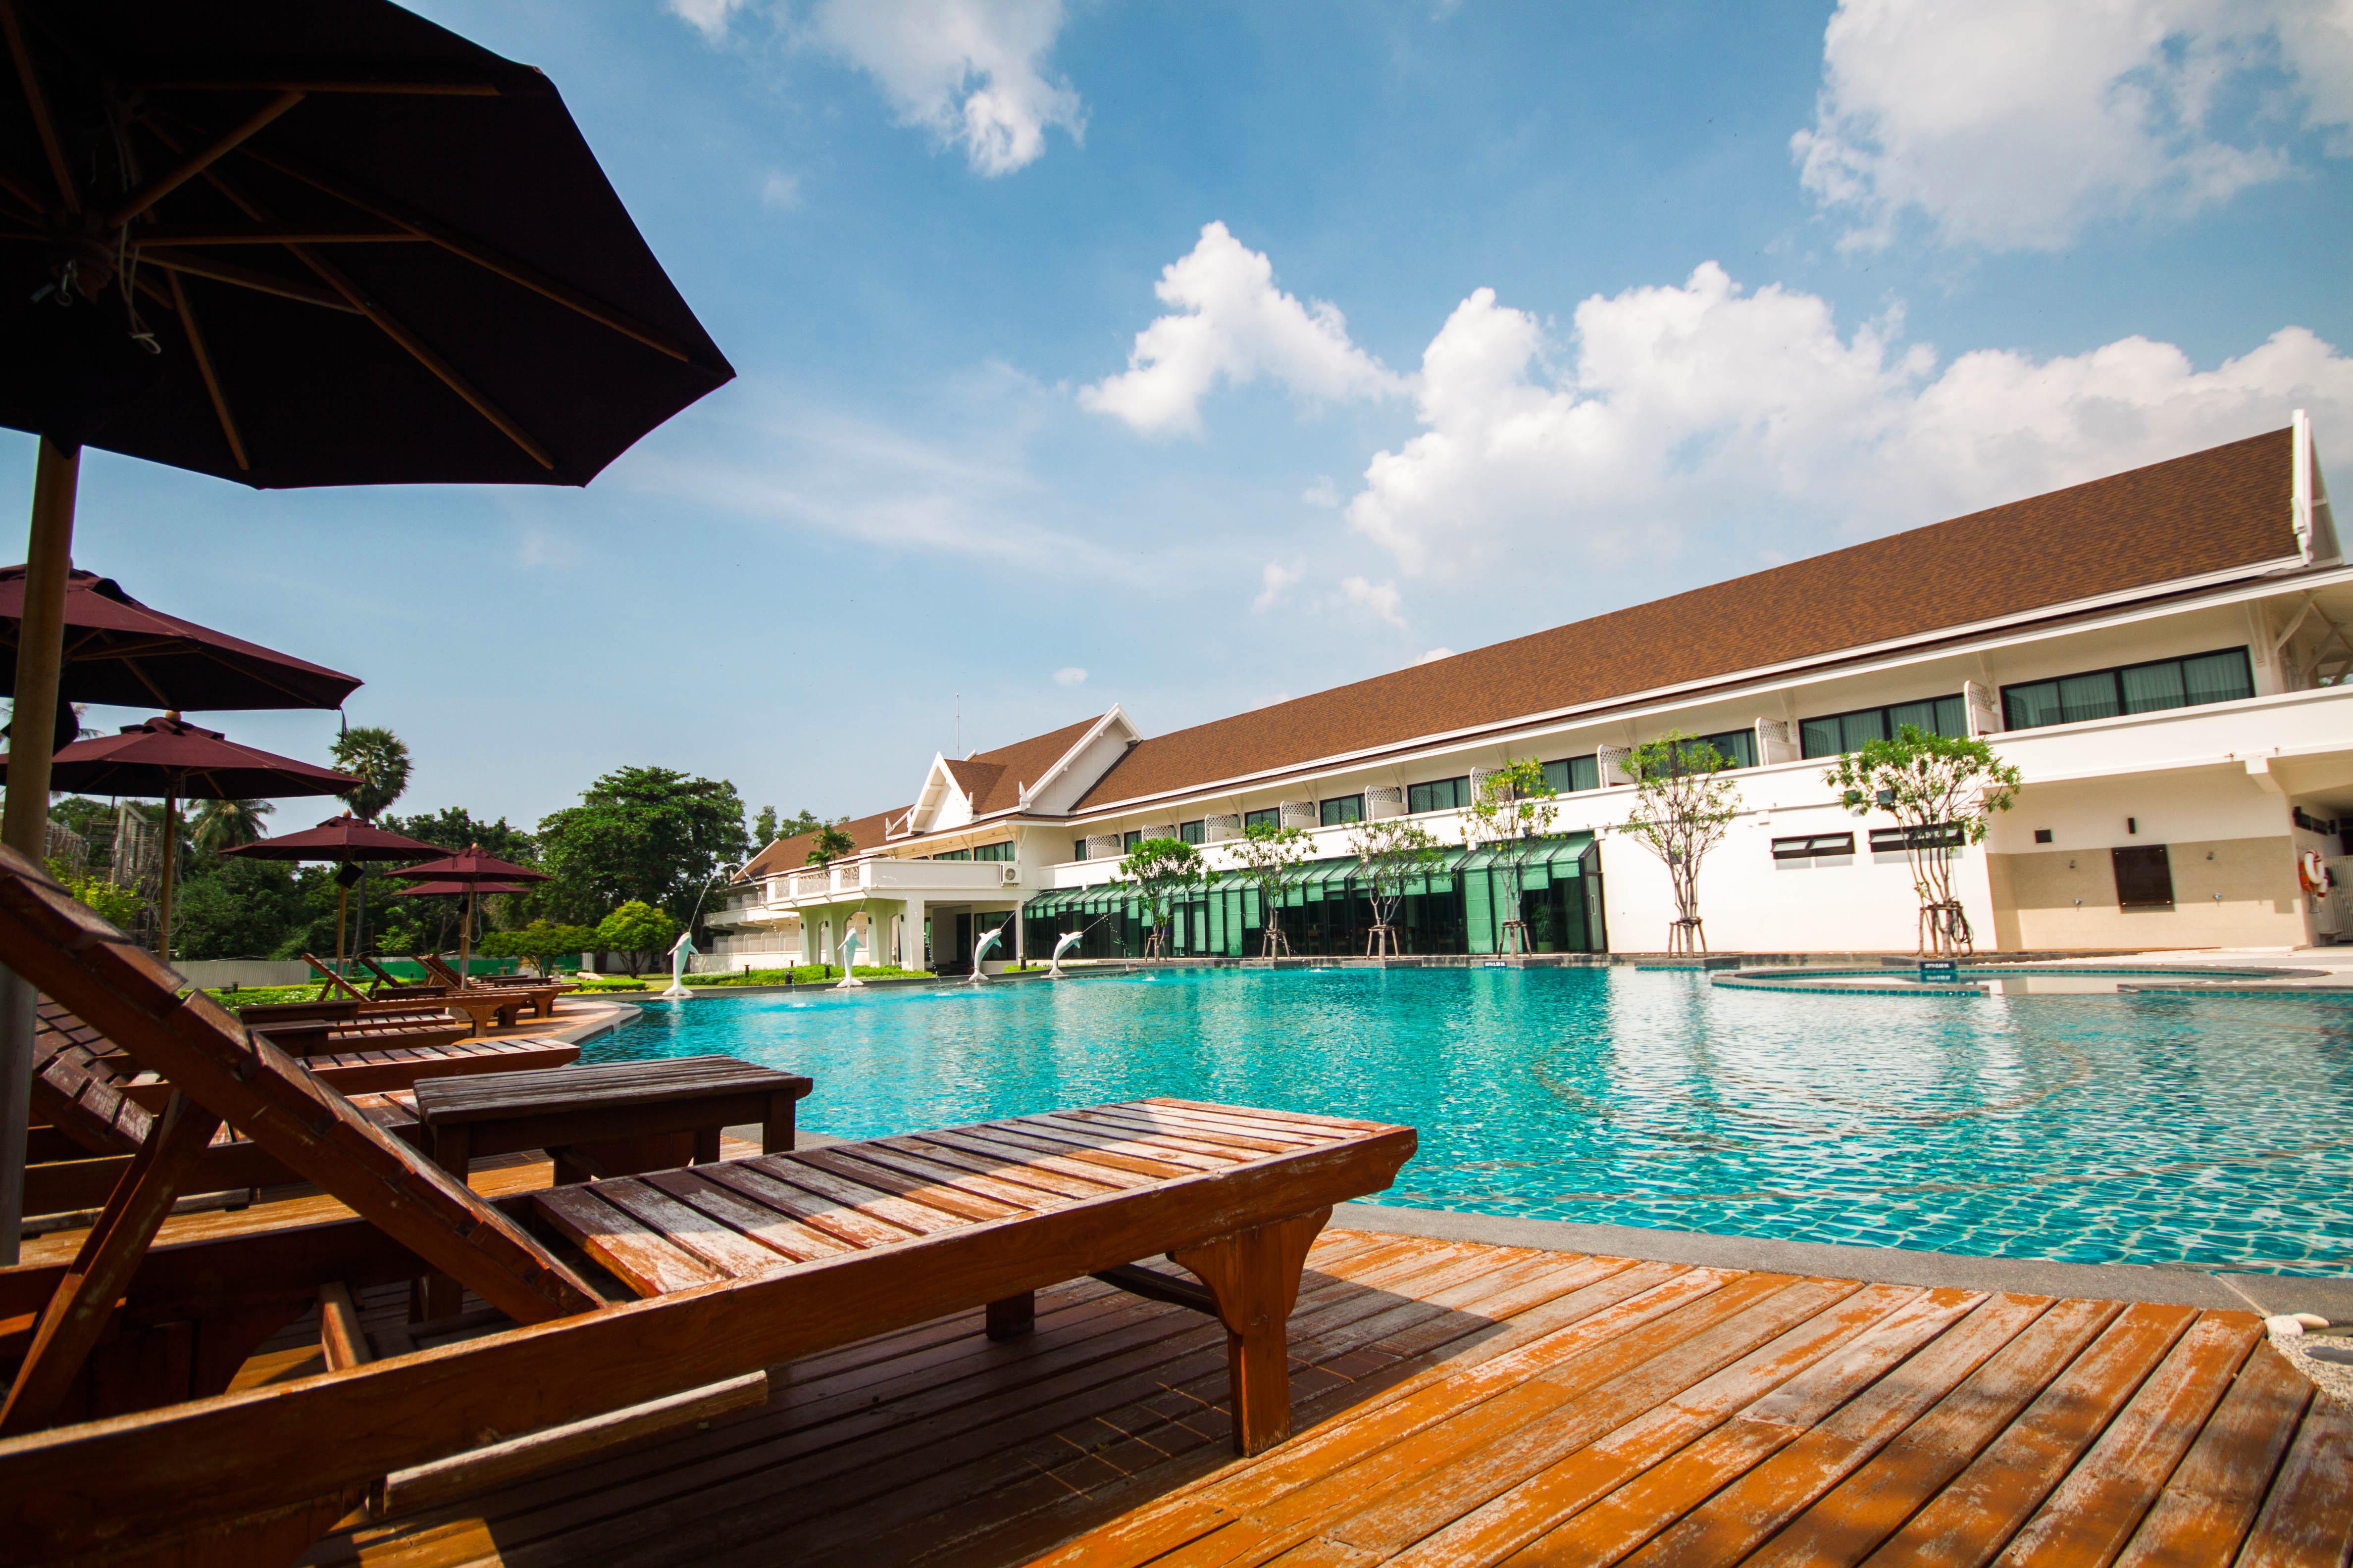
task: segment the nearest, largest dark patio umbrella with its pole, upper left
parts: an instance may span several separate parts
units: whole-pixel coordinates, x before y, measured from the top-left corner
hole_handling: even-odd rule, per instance
[[[388,0],[0,0],[0,425],[40,858],[82,444],[292,484],[586,484],[734,369],[555,85]],[[0,976],[0,1262],[33,992]]]

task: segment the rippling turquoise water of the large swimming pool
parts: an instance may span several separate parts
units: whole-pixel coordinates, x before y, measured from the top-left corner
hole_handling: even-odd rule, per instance
[[[864,1138],[1153,1093],[1405,1121],[1379,1201],[2353,1274],[2353,1009],[1809,997],[1628,969],[1193,971],[652,1001],[586,1060],[807,1072]]]

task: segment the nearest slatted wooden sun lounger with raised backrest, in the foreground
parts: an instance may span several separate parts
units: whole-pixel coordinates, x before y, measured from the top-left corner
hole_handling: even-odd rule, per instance
[[[1308,1244],[1414,1150],[1402,1126],[1144,1100],[489,1204],[209,999],[179,997],[5,849],[0,961],[181,1091],[73,1265],[0,1269],[0,1316],[38,1314],[0,1410],[0,1556],[24,1563],[282,1563],[388,1474],[944,1312],[988,1307],[995,1333],[1019,1333],[1028,1295],[1078,1274],[1214,1309],[1235,1446],[1257,1453],[1289,1434],[1285,1319]],[[148,1258],[224,1119],[360,1218]],[[642,1300],[607,1302],[534,1229],[612,1260]],[[1134,1269],[1155,1253],[1200,1286]],[[125,1335],[179,1314],[219,1371],[289,1305],[348,1307],[353,1286],[428,1269],[522,1326],[351,1363],[332,1328],[348,1312],[329,1309],[341,1371],[45,1429],[118,1300],[144,1314]]]

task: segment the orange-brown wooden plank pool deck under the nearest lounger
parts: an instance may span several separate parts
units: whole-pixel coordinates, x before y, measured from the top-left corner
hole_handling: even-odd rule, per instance
[[[2247,1312],[1327,1232],[1292,1356],[1299,1436],[1235,1460],[1224,1331],[1078,1281],[1024,1340],[974,1312],[812,1356],[762,1408],[304,1561],[2268,1568],[2353,1544],[2353,1420]]]

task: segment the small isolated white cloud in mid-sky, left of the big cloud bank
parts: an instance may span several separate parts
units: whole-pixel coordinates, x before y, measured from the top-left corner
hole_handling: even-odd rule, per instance
[[[1275,287],[1275,266],[1224,223],[1160,270],[1153,287],[1172,315],[1136,334],[1127,371],[1080,388],[1082,407],[1146,435],[1200,433],[1200,400],[1228,386],[1278,381],[1311,402],[1388,397],[1402,381],[1348,341],[1348,322],[1327,301],[1301,303]]]

